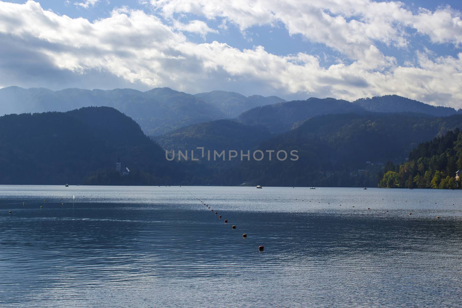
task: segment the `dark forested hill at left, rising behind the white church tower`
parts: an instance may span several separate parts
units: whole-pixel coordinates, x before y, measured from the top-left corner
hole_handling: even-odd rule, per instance
[[[117,157],[131,171],[124,179],[114,174]],[[0,184],[163,184],[181,171],[113,108],[0,117]]]

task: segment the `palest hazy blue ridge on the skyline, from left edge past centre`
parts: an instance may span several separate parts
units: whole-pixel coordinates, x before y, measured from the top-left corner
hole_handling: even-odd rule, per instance
[[[146,134],[161,135],[178,127],[230,118],[255,106],[283,101],[279,97],[245,97],[226,91],[192,95],[170,88],[145,92],[133,89],[51,91],[13,86],[0,89],[0,115],[107,106],[132,117]]]

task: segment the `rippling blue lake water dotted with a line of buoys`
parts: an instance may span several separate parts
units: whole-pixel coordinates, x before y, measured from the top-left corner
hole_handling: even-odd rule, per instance
[[[460,307],[461,196],[0,186],[0,307]]]

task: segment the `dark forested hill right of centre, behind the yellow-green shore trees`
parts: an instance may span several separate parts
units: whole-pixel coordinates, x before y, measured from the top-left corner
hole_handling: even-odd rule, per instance
[[[258,146],[298,150],[298,161],[243,162],[239,177],[265,186],[375,187],[388,160],[403,162],[420,142],[455,127],[462,115],[323,115]]]

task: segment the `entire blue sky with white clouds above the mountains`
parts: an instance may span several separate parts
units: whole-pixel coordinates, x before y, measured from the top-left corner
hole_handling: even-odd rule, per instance
[[[0,87],[354,100],[462,108],[462,1],[0,1]]]

